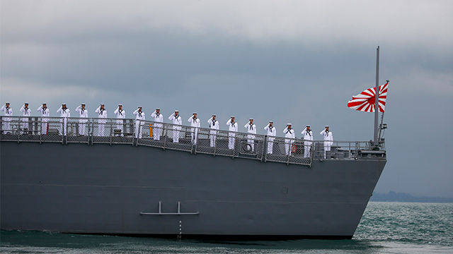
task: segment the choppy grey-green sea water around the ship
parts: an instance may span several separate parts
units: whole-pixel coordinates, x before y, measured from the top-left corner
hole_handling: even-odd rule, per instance
[[[352,240],[195,241],[1,231],[0,253],[453,253],[453,204],[369,202]]]

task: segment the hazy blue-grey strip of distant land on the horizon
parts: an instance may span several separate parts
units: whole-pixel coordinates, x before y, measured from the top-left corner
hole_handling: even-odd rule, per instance
[[[373,193],[369,201],[373,202],[441,202],[451,203],[453,198],[442,198],[442,197],[414,197],[407,193],[396,193],[390,191],[389,193]]]

